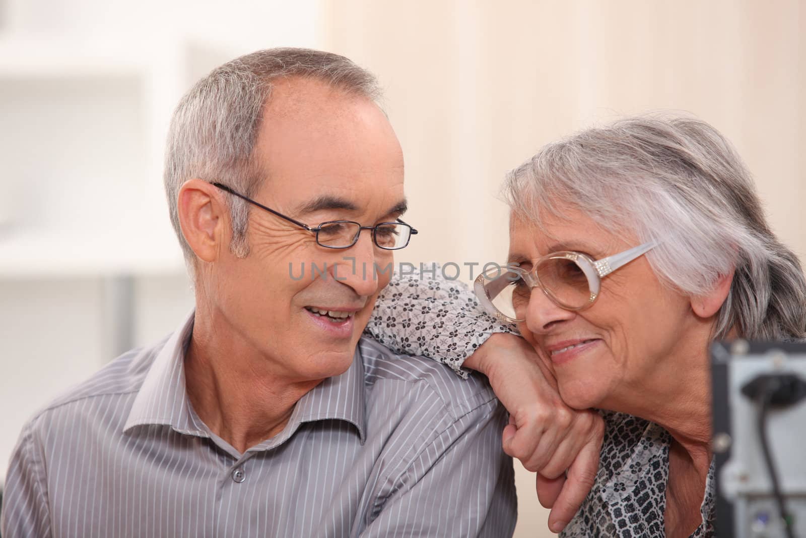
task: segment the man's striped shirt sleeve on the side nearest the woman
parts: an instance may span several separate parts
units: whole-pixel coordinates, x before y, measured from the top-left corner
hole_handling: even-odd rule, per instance
[[[384,490],[392,493],[380,498],[358,536],[512,536],[517,519],[513,460],[501,450],[507,417],[493,401],[423,444],[404,469],[393,469],[384,481]]]

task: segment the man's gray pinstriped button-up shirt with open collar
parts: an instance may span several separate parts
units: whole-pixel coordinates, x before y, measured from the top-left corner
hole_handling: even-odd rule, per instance
[[[364,338],[346,373],[238,453],[193,412],[193,316],[24,427],[6,475],[17,536],[511,536],[505,410],[484,382]]]

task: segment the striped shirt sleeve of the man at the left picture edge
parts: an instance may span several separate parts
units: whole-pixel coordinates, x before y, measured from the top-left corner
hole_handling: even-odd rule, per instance
[[[2,496],[0,536],[23,538],[51,536],[44,465],[31,425],[23,430],[11,455]]]

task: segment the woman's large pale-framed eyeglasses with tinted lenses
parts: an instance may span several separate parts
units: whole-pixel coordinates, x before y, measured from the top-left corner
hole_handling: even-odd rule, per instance
[[[650,241],[594,261],[582,252],[553,252],[526,271],[517,265],[490,269],[476,278],[476,296],[490,314],[505,322],[524,321],[534,288],[566,310],[580,311],[599,297],[601,279],[658,246]]]

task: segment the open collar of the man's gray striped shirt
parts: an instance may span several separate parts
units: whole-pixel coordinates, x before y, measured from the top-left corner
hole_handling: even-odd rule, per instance
[[[195,311],[157,352],[131,406],[124,431],[141,424],[162,424],[188,435],[211,436],[210,430],[193,412],[185,386],[185,352],[193,333],[194,316]],[[329,419],[353,424],[364,444],[366,411],[360,346],[356,346],[353,363],[346,372],[327,377],[302,396],[283,431],[250,450],[274,448],[293,436],[302,423]]]

